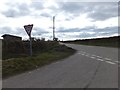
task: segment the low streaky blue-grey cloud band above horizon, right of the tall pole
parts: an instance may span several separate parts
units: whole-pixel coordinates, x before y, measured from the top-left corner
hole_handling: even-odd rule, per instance
[[[73,29],[60,29],[56,32],[59,38],[63,39],[86,39],[86,38],[98,38],[106,36],[114,36],[118,34],[118,27],[106,27],[99,29],[97,27],[86,28],[73,28]]]

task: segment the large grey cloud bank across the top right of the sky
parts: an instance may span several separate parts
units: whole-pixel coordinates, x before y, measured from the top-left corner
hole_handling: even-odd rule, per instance
[[[103,21],[111,17],[117,17],[117,2],[61,2],[60,9],[66,13],[72,13],[79,16],[83,13],[88,14],[88,18]]]

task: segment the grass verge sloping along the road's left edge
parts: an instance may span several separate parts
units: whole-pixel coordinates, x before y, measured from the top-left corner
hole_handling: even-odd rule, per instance
[[[36,54],[32,57],[11,58],[2,62],[2,76],[7,78],[16,74],[30,71],[41,66],[61,60],[75,53],[75,50],[64,45],[57,45],[53,49]]]

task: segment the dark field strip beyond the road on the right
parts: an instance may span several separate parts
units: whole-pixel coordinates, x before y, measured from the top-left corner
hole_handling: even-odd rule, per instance
[[[109,38],[64,41],[64,43],[120,48],[120,36],[109,37]]]

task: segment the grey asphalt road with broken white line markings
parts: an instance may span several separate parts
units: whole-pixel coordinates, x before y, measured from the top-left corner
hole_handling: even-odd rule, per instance
[[[118,49],[66,44],[77,52],[3,80],[3,88],[118,88]]]

